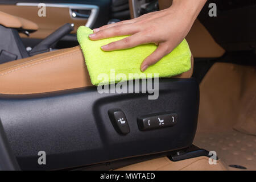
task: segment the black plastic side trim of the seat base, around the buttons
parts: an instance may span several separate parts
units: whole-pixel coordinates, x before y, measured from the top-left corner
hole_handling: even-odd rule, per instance
[[[119,135],[108,110],[121,109],[130,133]],[[21,169],[64,169],[189,147],[195,137],[199,85],[193,78],[161,79],[159,98],[146,93],[100,94],[97,87],[23,96],[0,95],[0,118]],[[142,132],[139,115],[171,111],[174,127]],[[45,151],[47,164],[38,164]]]

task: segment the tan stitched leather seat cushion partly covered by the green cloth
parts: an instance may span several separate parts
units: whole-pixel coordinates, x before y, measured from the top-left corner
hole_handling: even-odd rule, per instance
[[[191,77],[192,70],[176,77]],[[0,64],[0,83],[1,94],[45,93],[92,85],[79,46]]]

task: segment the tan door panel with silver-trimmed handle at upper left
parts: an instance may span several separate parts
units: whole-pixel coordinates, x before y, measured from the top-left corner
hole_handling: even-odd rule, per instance
[[[46,3],[46,16],[40,17],[38,11],[41,7],[38,7],[38,3]],[[24,3],[30,6],[24,6]],[[23,4],[22,6],[20,6]],[[54,5],[53,5],[54,4]],[[52,7],[54,6],[54,7]],[[57,6],[57,7],[56,7]],[[85,9],[88,7],[93,7],[94,11],[90,11],[89,19],[84,18],[74,18],[71,13],[71,9],[76,7],[75,10]],[[49,34],[55,31],[57,28],[62,26],[64,23],[74,23],[75,27],[72,34],[75,34],[79,26],[90,23],[91,28],[98,27],[103,24],[108,23],[109,20],[109,9],[110,0],[102,1],[0,1],[0,11],[5,13],[19,16],[31,20],[32,22],[38,24],[38,31],[32,33],[30,38],[43,39]],[[93,13],[94,12],[94,13]],[[92,22],[92,15],[96,15],[94,21]],[[23,38],[26,35],[21,34]]]

